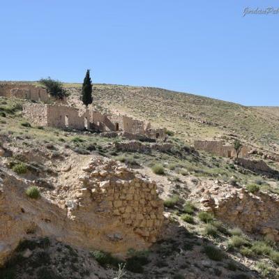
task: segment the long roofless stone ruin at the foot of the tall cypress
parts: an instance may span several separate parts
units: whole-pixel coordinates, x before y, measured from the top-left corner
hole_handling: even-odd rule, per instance
[[[67,105],[26,103],[23,116],[38,126],[73,128],[77,130],[119,131],[123,130],[154,139],[165,139],[165,129],[153,129],[150,123],[128,116],[102,114],[95,110],[81,112]]]

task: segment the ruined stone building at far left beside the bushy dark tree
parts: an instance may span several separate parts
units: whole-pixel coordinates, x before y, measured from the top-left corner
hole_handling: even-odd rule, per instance
[[[21,98],[27,100],[35,100],[46,102],[50,99],[50,94],[42,87],[34,86],[32,84],[13,84],[0,83],[0,96],[6,98]]]

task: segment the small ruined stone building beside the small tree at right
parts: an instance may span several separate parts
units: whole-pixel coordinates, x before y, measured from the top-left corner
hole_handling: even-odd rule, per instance
[[[217,156],[223,157],[236,157],[236,151],[234,150],[233,145],[225,145],[222,141],[218,140],[196,140],[194,142],[194,147],[197,150],[203,150],[209,153],[216,154]],[[239,157],[248,156],[248,147],[243,146],[241,152],[239,153]]]

